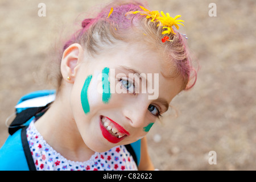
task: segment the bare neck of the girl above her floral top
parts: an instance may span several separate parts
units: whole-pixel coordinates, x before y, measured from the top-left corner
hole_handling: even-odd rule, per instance
[[[56,97],[35,126],[44,140],[68,160],[83,162],[95,153],[82,140],[69,101],[61,96]]]

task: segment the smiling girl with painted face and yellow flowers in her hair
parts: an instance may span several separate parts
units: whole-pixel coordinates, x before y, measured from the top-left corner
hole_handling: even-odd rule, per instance
[[[195,84],[185,38],[174,30],[183,25],[178,18],[118,1],[84,19],[64,45],[56,98],[7,139],[0,168],[154,170],[145,135],[171,100]],[[20,135],[24,154],[9,156]],[[127,144],[138,141],[136,163]],[[19,155],[26,167],[17,164]]]

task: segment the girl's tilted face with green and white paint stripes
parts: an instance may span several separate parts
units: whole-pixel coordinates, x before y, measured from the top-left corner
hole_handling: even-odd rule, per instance
[[[71,93],[73,117],[86,146],[97,152],[144,137],[180,92],[164,78],[160,57],[139,46],[116,46],[82,61]]]

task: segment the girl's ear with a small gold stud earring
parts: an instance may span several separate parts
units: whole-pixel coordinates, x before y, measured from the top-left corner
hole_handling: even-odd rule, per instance
[[[83,55],[84,50],[80,44],[75,43],[65,49],[60,64],[61,75],[65,81],[69,83],[75,81]]]

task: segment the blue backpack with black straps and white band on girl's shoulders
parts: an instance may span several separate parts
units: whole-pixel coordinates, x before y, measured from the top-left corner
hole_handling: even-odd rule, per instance
[[[0,148],[0,171],[35,171],[26,129],[30,122],[42,116],[55,100],[55,90],[39,90],[20,98],[16,117],[9,126],[9,137]],[[137,166],[141,159],[141,140],[125,145]]]

